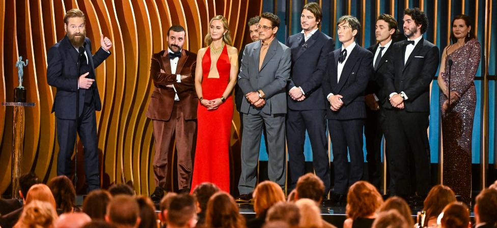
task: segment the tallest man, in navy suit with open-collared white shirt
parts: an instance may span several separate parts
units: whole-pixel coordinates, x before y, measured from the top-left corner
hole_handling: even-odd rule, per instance
[[[311,140],[316,175],[329,191],[329,157],[326,139],[326,102],[321,84],[326,70],[326,55],[335,49],[335,41],[319,31],[322,11],[317,3],[302,9],[302,31],[288,38],[292,49],[292,72],[287,86],[287,147],[290,160],[290,190],[305,173],[303,146],[306,129]]]

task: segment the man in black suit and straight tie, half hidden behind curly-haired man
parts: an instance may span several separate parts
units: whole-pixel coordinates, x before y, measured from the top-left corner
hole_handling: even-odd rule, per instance
[[[368,180],[378,190],[381,182],[381,139],[384,132],[385,114],[381,103],[388,99],[383,89],[383,75],[388,70],[388,58],[392,52],[393,36],[397,31],[397,21],[392,15],[381,14],[376,19],[375,36],[377,44],[368,48],[373,53],[374,75],[366,87],[366,160],[368,161]]]

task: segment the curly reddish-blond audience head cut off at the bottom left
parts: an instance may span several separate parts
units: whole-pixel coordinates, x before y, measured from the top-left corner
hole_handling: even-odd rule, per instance
[[[57,212],[52,204],[33,200],[22,210],[15,228],[53,228],[57,220]]]

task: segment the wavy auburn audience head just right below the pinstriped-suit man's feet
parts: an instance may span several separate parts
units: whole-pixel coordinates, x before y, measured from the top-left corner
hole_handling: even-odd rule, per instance
[[[376,187],[366,181],[357,181],[347,193],[346,213],[349,218],[356,219],[374,214],[383,203]]]

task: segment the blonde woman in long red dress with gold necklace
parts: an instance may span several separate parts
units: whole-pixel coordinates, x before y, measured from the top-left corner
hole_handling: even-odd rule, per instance
[[[204,42],[207,47],[197,53],[195,71],[199,106],[191,189],[202,182],[211,182],[221,190],[230,192],[231,90],[238,74],[238,51],[231,46],[228,20],[225,17],[217,15],[210,20]]]

